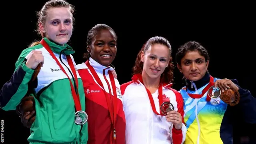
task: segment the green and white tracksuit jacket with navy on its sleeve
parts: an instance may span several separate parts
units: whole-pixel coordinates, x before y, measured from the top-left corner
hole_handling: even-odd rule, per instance
[[[60,46],[47,38],[44,38],[44,40],[73,82],[66,55],[70,55],[76,68],[71,55],[74,50],[67,44]],[[44,64],[37,80],[30,84],[34,70],[28,68],[25,63],[32,50],[42,52]],[[74,122],[75,108],[70,81],[44,46],[38,44],[23,50],[15,66],[16,69],[10,81],[6,82],[0,91],[0,106],[6,111],[16,110],[16,106],[28,92],[28,86],[30,86],[30,89],[33,88],[36,119],[30,128],[31,134],[28,138],[30,144],[75,144],[76,142],[86,144],[88,140],[88,124],[80,126]],[[85,111],[82,79],[77,70],[76,74],[78,76],[78,93],[81,107]]]

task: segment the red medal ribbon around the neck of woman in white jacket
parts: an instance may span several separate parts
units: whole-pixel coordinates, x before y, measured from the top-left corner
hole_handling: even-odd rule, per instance
[[[137,81],[138,77],[136,75],[134,75],[132,80]],[[144,85],[142,77],[140,77],[139,80]],[[147,93],[148,93],[148,98],[150,100],[150,104],[151,104],[152,110],[153,110],[153,112],[155,114],[157,114],[159,116],[165,116],[164,114],[162,114],[162,111],[161,111],[161,105],[163,103],[163,89],[162,89],[162,86],[163,86],[163,84],[162,84],[162,82],[160,82],[159,87],[158,87],[158,100],[159,100],[159,110],[160,110],[159,112],[160,112],[160,114],[156,111],[156,106],[155,106],[154,99],[152,97],[151,92],[144,86],[146,91],[147,91]]]

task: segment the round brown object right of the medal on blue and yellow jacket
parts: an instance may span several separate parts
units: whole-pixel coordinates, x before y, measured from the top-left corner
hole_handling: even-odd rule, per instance
[[[237,90],[230,88],[220,95],[220,99],[230,106],[235,106],[240,101],[240,94]]]

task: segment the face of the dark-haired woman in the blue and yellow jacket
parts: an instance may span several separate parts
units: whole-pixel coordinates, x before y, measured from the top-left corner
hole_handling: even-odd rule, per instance
[[[204,56],[195,50],[188,51],[181,59],[180,65],[177,64],[177,67],[186,79],[198,81],[205,75],[208,65],[209,61],[206,61]]]

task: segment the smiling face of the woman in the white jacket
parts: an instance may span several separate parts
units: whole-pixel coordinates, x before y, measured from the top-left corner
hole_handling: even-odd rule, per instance
[[[142,52],[143,71],[150,78],[160,78],[170,60],[170,50],[162,44],[153,44]],[[143,73],[143,72],[142,72]]]

